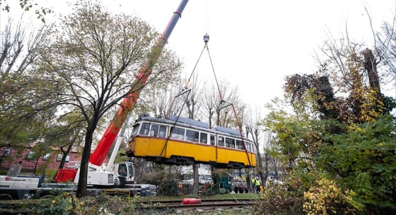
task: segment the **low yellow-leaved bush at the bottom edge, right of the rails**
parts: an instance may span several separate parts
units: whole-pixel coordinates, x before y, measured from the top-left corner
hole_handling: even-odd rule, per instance
[[[317,172],[299,172],[284,184],[265,187],[253,210],[268,215],[357,214],[363,212],[363,205],[355,201],[355,193],[335,181]]]

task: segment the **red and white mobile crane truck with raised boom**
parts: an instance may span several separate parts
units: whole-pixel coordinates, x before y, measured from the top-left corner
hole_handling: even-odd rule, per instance
[[[150,195],[155,190],[155,186],[148,184],[134,184],[135,168],[131,162],[114,164],[117,151],[122,142],[125,126],[118,136],[113,152],[111,153],[107,165],[103,161],[116,139],[121,126],[127,120],[127,116],[134,109],[139,95],[147,82],[152,68],[159,57],[160,52],[168,42],[176,23],[181,18],[182,12],[188,0],[181,0],[178,8],[173,12],[173,16],[166,26],[162,36],[152,48],[146,64],[139,70],[130,94],[121,102],[118,111],[108,125],[95,151],[90,156],[88,165],[87,193],[97,194],[98,192],[116,192],[128,194]],[[63,190],[74,192],[79,180],[80,167],[76,169],[59,169],[55,181],[58,183],[44,183],[44,176],[19,176],[21,166],[14,166],[7,176],[0,176],[0,199],[25,199],[34,196],[43,197],[50,194],[51,190]],[[65,183],[72,181],[72,183]]]

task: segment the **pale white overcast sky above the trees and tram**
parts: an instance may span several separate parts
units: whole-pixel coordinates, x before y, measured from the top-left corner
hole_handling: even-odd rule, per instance
[[[66,1],[37,2],[55,11],[49,21],[71,12]],[[109,11],[138,15],[161,33],[179,2],[103,0]],[[326,32],[340,37],[348,23],[349,36],[372,48],[364,6],[375,30],[392,21],[395,0],[190,0],[167,46],[183,59],[183,73],[190,73],[204,44],[202,36],[208,33],[217,76],[238,85],[247,104],[263,107],[283,95],[285,76],[316,71],[314,49],[328,38]],[[1,13],[3,27],[5,12]],[[207,55],[202,56],[198,73],[213,81]],[[388,85],[385,91],[395,97],[395,86]]]

